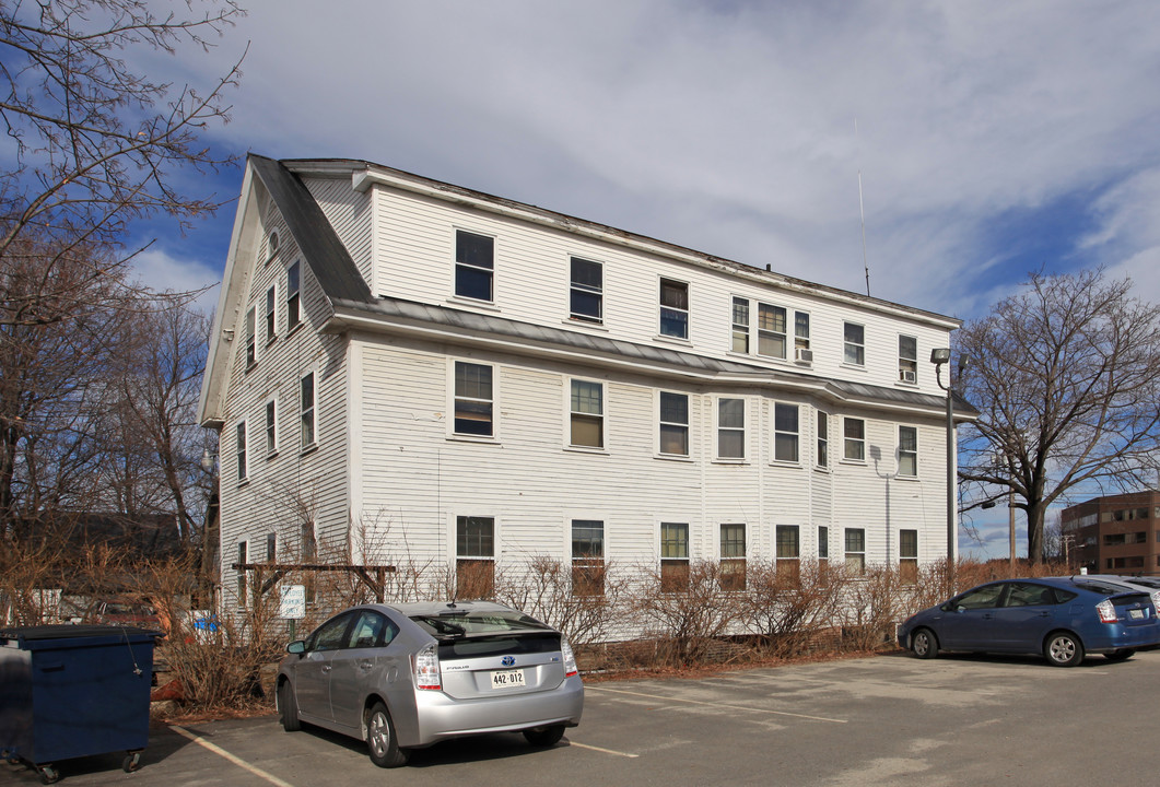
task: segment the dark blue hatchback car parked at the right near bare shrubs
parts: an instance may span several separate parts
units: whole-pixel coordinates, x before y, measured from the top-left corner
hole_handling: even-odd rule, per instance
[[[1160,643],[1146,592],[1083,576],[1001,580],[923,610],[898,627],[898,643],[919,658],[940,650],[1043,654],[1075,666],[1085,654],[1124,660]]]

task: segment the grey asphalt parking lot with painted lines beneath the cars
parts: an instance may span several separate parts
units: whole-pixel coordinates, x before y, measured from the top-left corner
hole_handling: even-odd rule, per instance
[[[490,735],[375,767],[364,744],[274,716],[154,730],[139,771],[123,755],[65,760],[61,785],[365,784],[1044,785],[1153,784],[1160,651],[1073,669],[1038,658],[891,654],[589,683],[580,727],[548,750]],[[0,782],[39,784],[0,763]]]

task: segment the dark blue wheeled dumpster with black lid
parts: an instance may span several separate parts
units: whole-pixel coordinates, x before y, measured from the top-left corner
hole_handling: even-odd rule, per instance
[[[160,636],[125,626],[0,629],[0,756],[28,763],[44,784],[73,757],[124,751],[122,767],[135,771]]]

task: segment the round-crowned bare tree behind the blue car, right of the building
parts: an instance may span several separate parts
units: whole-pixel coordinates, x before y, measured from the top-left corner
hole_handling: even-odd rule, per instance
[[[974,358],[959,478],[977,504],[1014,490],[1029,556],[1044,559],[1044,513],[1076,488],[1155,479],[1160,447],[1160,308],[1103,270],[1032,275],[1023,291],[959,331]]]

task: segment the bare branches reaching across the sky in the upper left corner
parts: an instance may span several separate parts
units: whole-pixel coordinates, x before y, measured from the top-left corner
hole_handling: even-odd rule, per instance
[[[130,221],[164,213],[187,226],[217,207],[212,196],[184,194],[177,172],[232,160],[198,134],[227,119],[223,92],[237,82],[240,60],[200,92],[155,82],[129,58],[205,50],[244,12],[234,0],[187,0],[184,16],[155,8],[147,0],[0,2],[0,123],[15,153],[0,172],[0,262],[29,235],[50,253],[39,286],[9,293],[2,320],[68,320],[132,257],[114,254]]]

